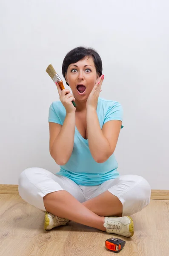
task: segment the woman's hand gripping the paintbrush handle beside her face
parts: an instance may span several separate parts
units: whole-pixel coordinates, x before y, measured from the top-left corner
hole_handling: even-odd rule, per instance
[[[75,101],[75,98],[72,93],[70,93],[69,89],[60,89],[60,86],[58,83],[56,83],[57,90],[59,93],[60,101],[62,102],[63,106],[66,109],[66,113],[73,113],[76,111],[76,108],[74,107],[72,101]]]

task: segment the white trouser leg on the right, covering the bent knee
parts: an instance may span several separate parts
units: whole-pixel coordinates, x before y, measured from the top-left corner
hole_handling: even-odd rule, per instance
[[[123,216],[140,212],[150,202],[151,187],[147,180],[138,175],[122,175],[103,182],[90,198],[108,190],[123,204]]]

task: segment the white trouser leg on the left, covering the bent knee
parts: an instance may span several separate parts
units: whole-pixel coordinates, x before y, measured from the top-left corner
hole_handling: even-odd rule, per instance
[[[43,197],[59,190],[66,190],[80,203],[85,201],[82,190],[74,181],[37,167],[28,168],[20,174],[18,190],[24,201],[42,211],[46,211]]]

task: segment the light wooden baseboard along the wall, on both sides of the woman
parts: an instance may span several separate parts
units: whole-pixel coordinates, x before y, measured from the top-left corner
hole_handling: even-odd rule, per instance
[[[0,194],[19,194],[18,185],[1,185]],[[169,190],[152,189],[151,199],[169,200]]]

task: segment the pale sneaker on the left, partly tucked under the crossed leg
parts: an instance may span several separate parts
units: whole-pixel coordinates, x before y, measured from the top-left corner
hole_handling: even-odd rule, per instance
[[[65,218],[60,218],[58,216],[55,216],[49,212],[45,212],[45,223],[44,228],[45,230],[51,230],[54,227],[59,227],[61,225],[66,225],[69,220]]]

